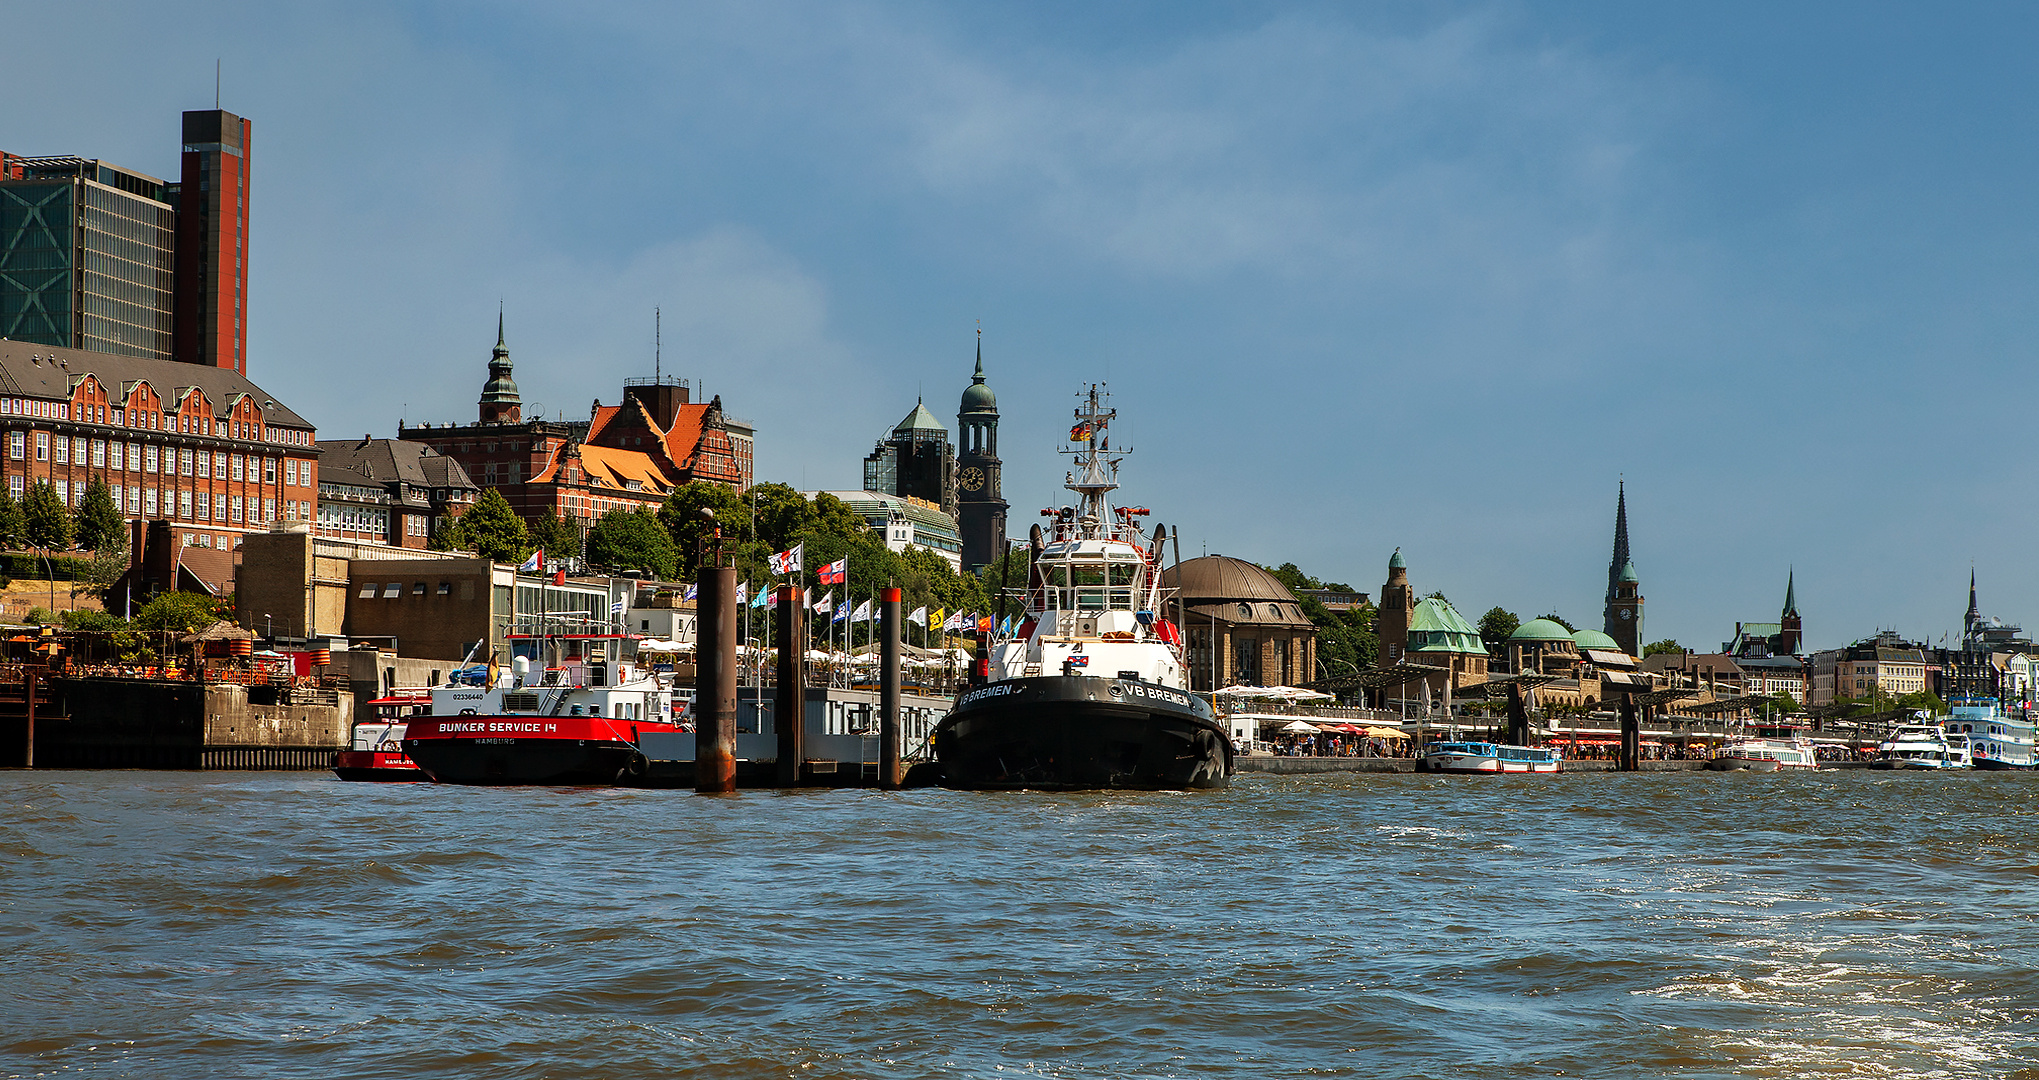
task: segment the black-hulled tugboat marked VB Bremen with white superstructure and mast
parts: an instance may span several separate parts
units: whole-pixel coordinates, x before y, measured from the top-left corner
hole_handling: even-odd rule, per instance
[[[989,677],[934,730],[942,782],[969,791],[1217,789],[1232,782],[1232,738],[1185,689],[1183,638],[1160,611],[1166,528],[1113,507],[1117,412],[1093,385],[1070,430],[1077,505],[1042,511],[1026,617],[991,648]],[[1123,452],[1121,452],[1123,454]]]

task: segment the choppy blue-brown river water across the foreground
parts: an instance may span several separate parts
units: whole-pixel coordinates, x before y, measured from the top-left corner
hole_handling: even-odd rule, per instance
[[[2035,795],[6,772],[0,1076],[2031,1080]]]

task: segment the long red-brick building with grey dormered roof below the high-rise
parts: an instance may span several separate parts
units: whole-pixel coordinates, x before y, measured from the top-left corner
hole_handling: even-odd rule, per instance
[[[318,514],[308,420],[230,369],[0,340],[0,475],[75,507],[104,479],[128,520],[232,550]]]

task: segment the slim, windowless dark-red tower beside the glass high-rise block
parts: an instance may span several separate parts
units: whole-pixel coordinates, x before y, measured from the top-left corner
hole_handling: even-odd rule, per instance
[[[175,359],[249,373],[249,134],[216,108],[184,114]]]

